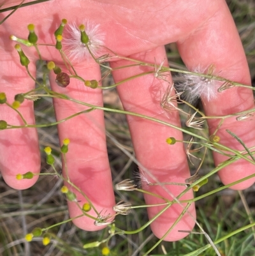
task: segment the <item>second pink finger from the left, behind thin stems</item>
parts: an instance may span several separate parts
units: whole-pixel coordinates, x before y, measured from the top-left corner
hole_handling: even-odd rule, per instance
[[[63,68],[63,66],[62,66]],[[99,80],[99,66],[94,63],[82,63],[75,67],[77,73],[84,79]],[[100,89],[91,89],[84,86],[84,82],[71,79],[68,87],[62,88],[55,83],[55,75],[50,75],[52,89],[81,102],[101,106],[102,95]],[[54,107],[57,120],[63,120],[82,110],[89,109],[84,105],[69,100],[54,100]],[[69,150],[66,154],[67,169],[63,174],[69,177],[70,181],[80,188],[91,200],[98,213],[101,215],[112,215],[112,207],[115,204],[112,177],[108,156],[106,151],[105,126],[103,111],[94,110],[79,116],[73,117],[58,125],[59,139],[70,140]],[[69,189],[77,195],[77,200],[82,206],[87,200],[69,186]],[[81,215],[82,212],[75,202],[68,202],[70,217]],[[93,210],[89,214],[97,217]],[[75,225],[85,230],[98,230],[102,227],[94,225],[94,220],[87,217],[78,218]]]

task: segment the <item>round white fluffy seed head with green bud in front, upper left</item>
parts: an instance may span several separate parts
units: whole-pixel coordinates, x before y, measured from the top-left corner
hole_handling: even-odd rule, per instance
[[[85,33],[89,36],[89,49],[95,57],[101,56],[102,45],[105,41],[105,33],[100,30],[99,24],[84,21]],[[62,45],[71,61],[84,61],[91,57],[86,45],[80,40],[80,24],[69,24],[65,27]]]

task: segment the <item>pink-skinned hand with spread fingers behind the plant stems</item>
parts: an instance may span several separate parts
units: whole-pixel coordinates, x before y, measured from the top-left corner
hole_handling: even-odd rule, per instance
[[[18,1],[17,1],[18,2]],[[4,6],[5,7],[5,6]],[[4,13],[4,15],[7,13]],[[0,15],[0,19],[4,16]],[[50,1],[21,8],[0,26],[0,56],[1,56],[1,90],[6,93],[8,102],[13,96],[33,89],[34,82],[27,76],[25,68],[20,66],[18,54],[13,48],[10,34],[20,38],[27,35],[27,24],[33,23],[40,37],[40,43],[53,43],[53,33],[61,19],[80,24],[92,20],[101,25],[106,33],[105,45],[120,56],[128,56],[142,61],[159,64],[166,58],[162,45],[177,42],[180,55],[187,67],[192,70],[198,66],[206,68],[214,64],[216,73],[230,80],[250,84],[249,70],[245,59],[242,43],[225,1],[203,0],[192,1]],[[29,70],[34,75],[34,62],[37,59],[34,49],[25,49],[31,63]],[[43,59],[54,60],[61,65],[61,59],[52,47],[40,47]],[[112,67],[128,64],[128,61],[113,61]],[[98,64],[92,59],[74,63],[77,72],[84,79],[101,77]],[[167,66],[167,62],[164,63]],[[113,72],[116,82],[126,77],[147,70],[145,67],[129,68]],[[171,82],[171,75],[168,77]],[[71,79],[66,88],[57,86],[55,77],[50,77],[52,89],[94,105],[103,102],[101,91],[84,87],[82,82]],[[167,82],[157,80],[153,75],[147,75],[132,80],[118,87],[119,96],[124,108],[151,117],[157,117],[171,124],[179,125],[177,114],[171,119],[166,117],[159,107],[160,96],[168,86]],[[249,89],[233,88],[224,91],[212,102],[203,99],[207,115],[226,115],[254,107],[252,91]],[[85,108],[72,102],[55,100],[54,107],[57,119],[63,119]],[[20,112],[27,123],[34,123],[33,103],[25,101]],[[13,110],[1,105],[0,119],[10,124],[22,124]],[[210,131],[214,132],[219,119],[208,122]],[[146,167],[157,180],[183,182],[190,176],[186,153],[182,144],[169,146],[167,137],[182,139],[182,133],[167,126],[145,119],[128,116],[129,128],[135,147],[136,157],[143,167]],[[226,128],[237,134],[245,144],[253,146],[253,131],[255,121],[237,123],[235,119],[227,119],[219,130],[222,144],[243,149],[238,142],[225,132]],[[68,137],[71,140],[67,154],[68,174],[79,188],[92,200],[98,211],[113,213],[115,199],[112,190],[112,177],[108,163],[105,143],[103,112],[96,110],[89,114],[75,117],[59,124],[59,138],[62,141]],[[0,169],[4,180],[11,187],[25,189],[36,183],[37,178],[17,181],[16,175],[29,171],[40,172],[40,151],[36,129],[17,129],[1,131]],[[226,158],[214,154],[215,164],[218,165]],[[242,160],[237,161],[219,172],[224,184],[231,183],[254,173],[254,166]],[[237,184],[233,189],[240,190],[251,186],[254,179]],[[179,195],[184,189],[180,186],[165,186],[173,195]],[[171,199],[171,195],[159,186],[150,187],[151,192],[159,193]],[[191,199],[192,193],[186,193],[181,199]],[[78,195],[81,204],[85,200]],[[147,204],[155,204],[162,200],[145,195]],[[149,218],[152,218],[162,207],[150,207]],[[151,224],[152,231],[157,237],[164,233],[175,222],[183,207],[171,206],[163,215]],[[70,216],[80,215],[80,210],[69,203]],[[189,213],[196,216],[194,204],[189,207]],[[93,214],[93,213],[92,213]],[[94,216],[96,214],[94,213]],[[83,217],[75,220],[81,229],[98,230],[94,221]],[[175,241],[186,236],[178,230],[191,230],[194,220],[187,213],[177,226],[165,237],[166,241]]]

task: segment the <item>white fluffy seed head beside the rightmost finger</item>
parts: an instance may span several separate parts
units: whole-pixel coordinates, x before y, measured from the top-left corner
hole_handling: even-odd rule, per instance
[[[207,68],[201,69],[198,67],[193,72],[207,73],[207,70]],[[178,91],[184,91],[187,102],[193,103],[200,97],[210,102],[217,97],[217,88],[219,87],[217,80],[190,73],[183,73],[180,76],[182,77],[182,82],[175,87]]]

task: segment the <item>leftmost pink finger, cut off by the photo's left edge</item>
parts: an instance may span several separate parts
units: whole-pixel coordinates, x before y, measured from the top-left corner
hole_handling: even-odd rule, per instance
[[[6,94],[7,103],[11,105],[16,94],[34,89],[34,81],[27,74],[24,66],[19,63],[18,54],[13,45],[4,50],[0,49],[0,54],[0,91]],[[35,63],[29,64],[29,70],[35,77]],[[22,117],[8,105],[0,105],[0,120],[14,126],[35,123],[32,101],[24,100],[17,110]],[[17,174],[25,172],[38,174],[40,172],[41,161],[36,128],[1,130],[0,141],[0,169],[4,181],[12,188],[19,190],[29,188],[36,183],[38,176],[34,176],[33,179],[17,180],[16,178]]]

